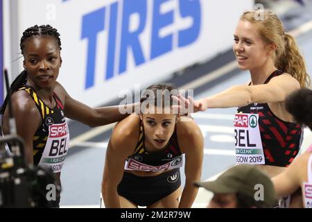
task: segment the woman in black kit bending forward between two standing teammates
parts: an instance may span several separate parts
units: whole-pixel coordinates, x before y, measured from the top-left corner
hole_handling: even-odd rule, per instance
[[[193,182],[202,169],[202,133],[191,119],[180,121],[173,114],[174,87],[152,85],[145,92],[140,114],[117,123],[110,138],[102,181],[105,207],[191,207],[198,192]]]

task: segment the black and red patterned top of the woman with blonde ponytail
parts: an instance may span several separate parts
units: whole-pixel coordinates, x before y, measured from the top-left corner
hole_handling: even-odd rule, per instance
[[[265,81],[284,71],[274,71]],[[251,103],[238,108],[237,112],[259,114],[259,129],[266,165],[288,167],[298,154],[301,144],[302,128],[297,123],[279,119],[270,110],[268,103]]]

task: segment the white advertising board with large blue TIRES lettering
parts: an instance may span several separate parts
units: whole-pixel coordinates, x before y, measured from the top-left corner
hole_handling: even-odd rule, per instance
[[[58,80],[73,98],[97,106],[123,89],[162,82],[174,71],[230,49],[239,16],[253,3],[17,0],[17,33],[21,37],[35,24],[57,28],[63,60]],[[21,71],[22,59],[17,63]]]

